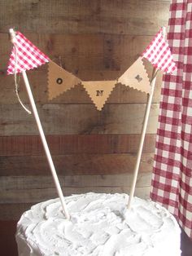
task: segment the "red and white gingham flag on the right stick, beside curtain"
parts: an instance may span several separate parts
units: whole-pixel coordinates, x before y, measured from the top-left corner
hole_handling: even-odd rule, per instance
[[[168,42],[164,39],[163,28],[159,30],[150,45],[146,47],[142,56],[149,60],[155,68],[159,68],[166,73],[172,73],[176,69]]]

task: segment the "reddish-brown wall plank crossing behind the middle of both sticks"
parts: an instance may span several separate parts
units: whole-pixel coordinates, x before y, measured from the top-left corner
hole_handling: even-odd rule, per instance
[[[48,135],[47,143],[51,154],[107,154],[135,153],[140,135]],[[39,135],[1,136],[0,156],[42,156]],[[154,152],[155,135],[146,135],[143,151]]]

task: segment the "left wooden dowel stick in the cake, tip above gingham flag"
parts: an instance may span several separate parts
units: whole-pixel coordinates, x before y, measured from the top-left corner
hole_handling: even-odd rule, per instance
[[[15,32],[14,32],[13,29],[10,29],[10,34],[11,34],[11,39],[14,42]],[[42,142],[43,148],[46,152],[46,158],[47,158],[47,161],[48,161],[49,166],[50,166],[50,171],[51,171],[51,174],[53,176],[53,179],[54,179],[54,182],[55,182],[55,187],[56,187],[56,190],[58,192],[58,195],[59,195],[59,198],[60,198],[60,201],[61,201],[61,205],[62,205],[62,208],[63,208],[63,214],[65,215],[66,218],[70,219],[70,215],[68,214],[67,205],[64,201],[63,192],[62,192],[61,186],[59,184],[59,179],[58,179],[58,176],[57,176],[57,173],[56,173],[56,170],[55,170],[55,166],[54,166],[52,157],[50,155],[50,149],[48,147],[48,144],[46,142],[46,137],[45,137],[44,132],[42,130],[41,121],[40,121],[38,113],[37,113],[36,104],[35,104],[35,101],[33,99],[32,90],[31,90],[31,87],[29,85],[28,77],[27,77],[27,74],[25,73],[25,71],[22,72],[22,76],[24,78],[24,85],[25,85],[25,88],[26,88],[27,93],[28,93],[28,98],[29,98],[29,101],[30,101],[30,104],[31,104],[31,107],[32,107],[33,115],[34,115],[36,123],[37,123],[37,128],[39,130],[39,134],[40,134],[40,137],[41,137],[41,142]]]

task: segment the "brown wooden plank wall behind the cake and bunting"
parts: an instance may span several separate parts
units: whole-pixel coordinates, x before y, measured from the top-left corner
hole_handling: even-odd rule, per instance
[[[18,219],[56,196],[37,127],[15,96],[6,68],[11,27],[84,81],[120,77],[162,25],[170,1],[2,0],[0,2],[0,219]],[[146,64],[151,74],[151,65]],[[98,112],[82,86],[48,101],[47,65],[28,72],[64,195],[129,192],[146,95],[116,86]],[[159,112],[155,88],[136,195],[149,196]],[[20,98],[28,105],[20,79]]]

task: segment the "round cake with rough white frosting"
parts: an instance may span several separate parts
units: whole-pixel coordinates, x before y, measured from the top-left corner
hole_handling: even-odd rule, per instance
[[[19,256],[180,256],[180,228],[164,207],[126,194],[87,193],[34,205],[20,218]]]

